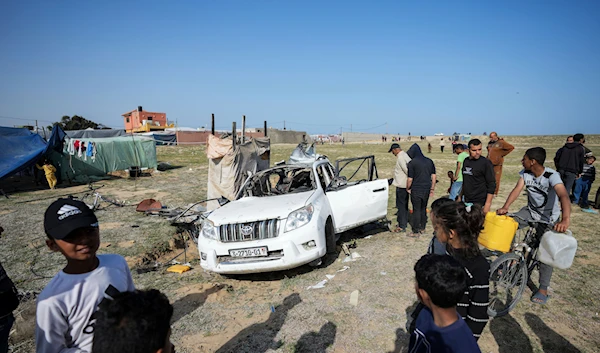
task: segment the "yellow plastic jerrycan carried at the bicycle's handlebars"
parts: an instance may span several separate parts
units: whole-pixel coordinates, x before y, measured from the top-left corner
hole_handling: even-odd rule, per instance
[[[477,241],[490,250],[509,252],[518,227],[519,223],[511,217],[488,212]]]

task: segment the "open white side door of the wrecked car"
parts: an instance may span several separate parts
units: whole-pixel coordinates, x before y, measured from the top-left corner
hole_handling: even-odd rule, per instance
[[[346,185],[328,188],[325,196],[333,213],[336,233],[385,218],[387,215],[386,179],[348,182]]]

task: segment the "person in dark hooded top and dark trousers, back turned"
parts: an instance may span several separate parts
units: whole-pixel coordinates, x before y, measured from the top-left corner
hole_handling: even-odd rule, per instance
[[[416,143],[406,152],[411,158],[408,162],[408,179],[406,191],[410,194],[413,206],[412,233],[409,237],[419,237],[427,224],[427,203],[433,197],[435,189],[435,165],[433,161],[423,155],[421,147]]]

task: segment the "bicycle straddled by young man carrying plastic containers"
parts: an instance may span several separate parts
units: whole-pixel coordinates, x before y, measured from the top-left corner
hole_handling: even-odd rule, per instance
[[[510,252],[489,251],[488,257],[498,256],[490,265],[490,317],[504,316],[515,308],[531,281],[531,273],[539,267],[537,252],[541,237],[551,227],[543,221],[526,220],[516,214],[509,216],[526,222],[528,228],[517,229]],[[538,231],[542,234],[538,235]]]

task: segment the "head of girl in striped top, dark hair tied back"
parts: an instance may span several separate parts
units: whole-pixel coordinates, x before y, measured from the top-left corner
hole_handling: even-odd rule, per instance
[[[477,237],[485,220],[481,206],[453,201],[435,205],[436,202],[431,206],[431,222],[437,239],[454,249],[463,249],[468,256],[479,255]]]

